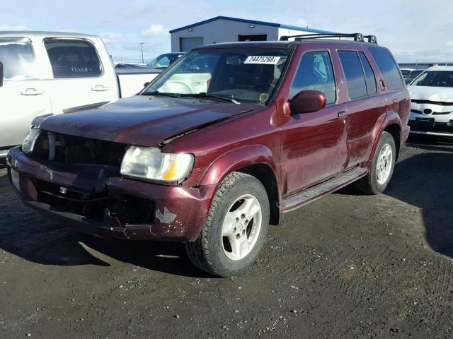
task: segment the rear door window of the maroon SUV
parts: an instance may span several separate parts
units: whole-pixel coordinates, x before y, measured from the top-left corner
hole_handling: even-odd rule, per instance
[[[362,64],[355,51],[338,51],[341,66],[345,73],[346,85],[350,99],[365,97],[367,95],[367,85],[363,74]]]

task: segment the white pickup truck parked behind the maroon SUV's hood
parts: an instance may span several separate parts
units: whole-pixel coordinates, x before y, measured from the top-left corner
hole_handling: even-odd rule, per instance
[[[0,161],[33,118],[129,97],[161,71],[115,70],[95,35],[0,31]]]

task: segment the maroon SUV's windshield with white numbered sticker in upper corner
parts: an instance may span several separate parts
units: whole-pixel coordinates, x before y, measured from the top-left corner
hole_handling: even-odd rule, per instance
[[[264,47],[195,49],[156,78],[142,95],[223,95],[264,105],[280,81],[289,52]]]

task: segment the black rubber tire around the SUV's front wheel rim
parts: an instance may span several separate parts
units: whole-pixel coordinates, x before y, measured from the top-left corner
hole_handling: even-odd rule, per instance
[[[262,222],[258,239],[249,254],[241,260],[231,260],[224,253],[222,225],[231,205],[244,194],[253,195],[260,203]],[[246,270],[265,242],[270,218],[269,198],[261,182],[249,174],[232,172],[219,185],[211,204],[205,227],[195,242],[185,244],[190,261],[207,273],[221,277],[238,275]]]

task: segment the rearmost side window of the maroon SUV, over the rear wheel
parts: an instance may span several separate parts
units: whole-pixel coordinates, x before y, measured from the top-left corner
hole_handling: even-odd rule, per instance
[[[401,78],[401,73],[398,71],[398,66],[396,66],[396,62],[390,52],[382,47],[368,47],[368,50],[381,70],[386,88],[389,90],[403,88],[403,78]]]

